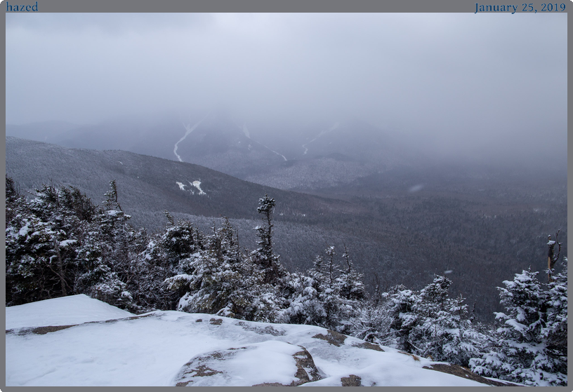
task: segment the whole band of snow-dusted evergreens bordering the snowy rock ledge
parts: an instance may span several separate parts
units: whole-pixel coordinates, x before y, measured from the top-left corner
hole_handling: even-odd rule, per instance
[[[436,275],[421,290],[365,289],[344,245],[328,245],[312,268],[289,273],[273,248],[275,200],[259,200],[258,248],[242,248],[228,219],[208,233],[165,212],[156,234],[135,230],[117,184],[101,205],[52,184],[32,200],[6,177],[6,306],[86,294],[136,313],[156,309],[244,320],[318,325],[489,377],[530,385],[567,384],[567,258],[562,270],[516,273],[498,288],[496,325],[475,320],[452,281]],[[551,252],[551,267],[558,257]],[[340,260],[339,264],[337,260]],[[475,305],[474,305],[475,306]]]

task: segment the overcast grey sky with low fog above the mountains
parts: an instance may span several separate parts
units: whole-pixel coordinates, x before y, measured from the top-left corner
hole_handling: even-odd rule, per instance
[[[6,123],[216,104],[567,154],[567,14],[6,14]]]

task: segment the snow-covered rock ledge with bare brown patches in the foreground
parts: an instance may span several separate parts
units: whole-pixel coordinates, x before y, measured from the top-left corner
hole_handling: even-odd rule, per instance
[[[321,327],[135,316],[86,295],[6,308],[6,386],[484,385],[432,365],[448,367]]]

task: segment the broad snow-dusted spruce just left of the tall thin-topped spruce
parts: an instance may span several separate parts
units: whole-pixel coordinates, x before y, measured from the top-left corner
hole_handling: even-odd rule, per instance
[[[176,309],[217,313],[245,320],[274,321],[278,286],[265,282],[265,270],[239,250],[228,219],[220,229],[202,235],[202,246],[180,259],[176,274],[166,278],[171,292],[179,293]],[[284,306],[284,304],[282,305]]]

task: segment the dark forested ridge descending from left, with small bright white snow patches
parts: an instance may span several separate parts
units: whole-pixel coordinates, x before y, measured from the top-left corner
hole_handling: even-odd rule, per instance
[[[265,193],[279,200],[283,216],[309,214],[312,205],[320,209],[342,204],[245,182],[192,163],[128,151],[69,149],[15,137],[6,137],[6,173],[23,189],[53,180],[78,187],[96,203],[110,180],[117,180],[122,205],[136,211],[256,219],[258,198]]]

